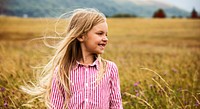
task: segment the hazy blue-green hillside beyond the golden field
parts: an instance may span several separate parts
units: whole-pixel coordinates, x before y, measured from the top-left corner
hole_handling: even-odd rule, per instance
[[[158,8],[162,7],[168,17],[189,16],[188,12],[174,6],[168,6],[159,2],[151,2],[150,4],[138,4],[130,0],[1,0],[0,14],[12,16],[27,15],[29,17],[57,17],[75,8],[90,7],[99,9],[107,16],[126,13],[139,17],[151,17]]]

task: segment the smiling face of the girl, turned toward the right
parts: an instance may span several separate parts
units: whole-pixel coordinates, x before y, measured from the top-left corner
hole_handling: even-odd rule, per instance
[[[82,52],[89,54],[102,54],[108,43],[108,25],[106,22],[95,25],[82,37]]]

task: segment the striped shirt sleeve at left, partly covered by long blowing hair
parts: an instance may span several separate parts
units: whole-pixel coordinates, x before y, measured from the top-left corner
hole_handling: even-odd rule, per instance
[[[57,81],[56,74],[54,74],[51,85],[50,105],[51,109],[63,109],[64,105],[64,89],[60,87]]]

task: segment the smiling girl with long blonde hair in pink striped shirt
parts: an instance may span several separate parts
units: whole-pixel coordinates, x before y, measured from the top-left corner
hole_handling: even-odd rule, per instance
[[[108,43],[106,17],[95,9],[73,11],[67,36],[34,88],[51,109],[122,109],[118,69],[100,57]]]

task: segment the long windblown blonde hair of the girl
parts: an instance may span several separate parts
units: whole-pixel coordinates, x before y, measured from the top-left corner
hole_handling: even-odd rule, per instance
[[[69,23],[66,29],[66,37],[59,42],[59,46],[56,47],[56,53],[52,59],[43,68],[40,77],[37,79],[37,83],[33,83],[32,86],[26,85],[22,87],[26,93],[40,98],[45,102],[46,106],[51,108],[50,93],[53,75],[57,78],[57,84],[64,88],[65,104],[67,107],[67,101],[70,95],[70,70],[76,64],[77,60],[82,58],[82,52],[78,37],[87,34],[93,26],[106,21],[106,17],[103,13],[96,9],[76,9],[72,11],[72,15],[69,18]],[[97,80],[100,80],[105,72],[106,61],[97,55],[97,59],[100,62],[100,71]],[[55,73],[55,69],[57,69]]]

